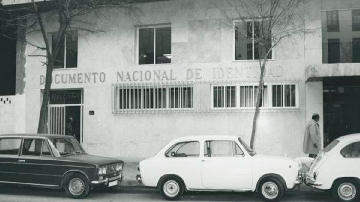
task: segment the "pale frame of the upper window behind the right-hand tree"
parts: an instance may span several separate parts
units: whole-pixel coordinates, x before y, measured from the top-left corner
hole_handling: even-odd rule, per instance
[[[267,19],[267,20],[269,20],[269,19]],[[254,21],[261,21],[261,19],[259,19],[259,20],[250,20],[250,19],[248,19],[248,20],[241,20],[241,19],[237,19],[237,20],[233,20],[233,27],[234,27],[234,31],[233,31],[233,56],[232,56],[232,60],[233,60],[233,62],[249,62],[249,61],[259,61],[260,59],[252,59],[252,60],[248,60],[248,59],[246,59],[246,60],[237,60],[236,59],[236,39],[235,39],[235,32],[236,32],[236,29],[235,29],[235,23],[237,23],[237,22],[254,22]],[[254,24],[254,23],[252,23],[252,24]],[[254,33],[254,26],[252,26],[252,33]],[[271,32],[271,35],[273,35],[273,32]],[[274,45],[274,42],[273,42],[273,40],[272,40],[272,38],[271,38],[271,45]],[[253,39],[253,37],[252,37],[252,56],[253,56],[253,58],[255,58],[255,42],[254,42],[254,39]],[[263,60],[263,59],[261,59],[261,60]],[[275,60],[275,47],[273,47],[273,49],[271,50],[271,59],[270,58],[268,58],[267,59],[267,61],[274,61]]]

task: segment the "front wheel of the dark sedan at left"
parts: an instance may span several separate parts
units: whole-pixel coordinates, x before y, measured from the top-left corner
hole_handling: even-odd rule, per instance
[[[65,179],[65,193],[70,198],[85,198],[90,193],[89,180],[80,174],[69,174]]]

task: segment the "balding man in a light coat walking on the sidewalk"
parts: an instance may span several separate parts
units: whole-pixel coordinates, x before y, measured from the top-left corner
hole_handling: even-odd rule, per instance
[[[306,124],[303,151],[308,153],[311,158],[315,158],[321,150],[319,119],[319,114],[313,114],[311,120]]]

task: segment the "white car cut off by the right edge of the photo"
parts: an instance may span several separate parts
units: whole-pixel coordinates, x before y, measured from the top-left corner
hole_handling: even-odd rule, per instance
[[[339,137],[325,147],[309,167],[305,183],[318,189],[331,189],[339,201],[357,201],[360,133]]]

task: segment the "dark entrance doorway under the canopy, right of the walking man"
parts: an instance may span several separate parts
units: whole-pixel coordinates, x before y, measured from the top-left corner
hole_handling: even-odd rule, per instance
[[[360,77],[329,77],[323,81],[324,145],[360,132]]]

